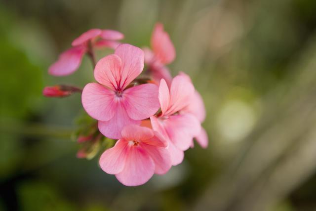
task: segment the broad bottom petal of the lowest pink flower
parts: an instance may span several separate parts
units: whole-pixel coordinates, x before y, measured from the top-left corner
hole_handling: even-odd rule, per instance
[[[155,163],[140,146],[131,146],[127,153],[124,169],[116,174],[118,181],[126,186],[137,186],[146,183],[155,171]]]

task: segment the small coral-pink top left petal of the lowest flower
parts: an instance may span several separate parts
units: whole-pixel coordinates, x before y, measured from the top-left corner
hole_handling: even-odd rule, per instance
[[[129,125],[122,129],[121,135],[126,140],[142,141],[154,137],[154,132],[148,127]]]

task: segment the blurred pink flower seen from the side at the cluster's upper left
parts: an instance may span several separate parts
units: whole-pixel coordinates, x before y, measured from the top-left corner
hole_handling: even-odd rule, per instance
[[[119,44],[117,40],[123,38],[123,34],[114,30],[90,29],[72,42],[72,48],[60,54],[48,73],[53,76],[70,75],[79,68],[83,55],[89,53],[92,47],[116,48]]]

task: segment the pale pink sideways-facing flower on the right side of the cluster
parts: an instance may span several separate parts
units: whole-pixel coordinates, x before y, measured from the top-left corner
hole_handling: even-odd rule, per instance
[[[197,118],[184,111],[194,91],[193,84],[184,76],[176,76],[172,80],[170,90],[164,79],[160,81],[158,98],[161,114],[151,117],[151,123],[153,129],[169,142],[168,150],[173,166],[182,162],[183,151],[192,145],[193,137],[201,130]]]

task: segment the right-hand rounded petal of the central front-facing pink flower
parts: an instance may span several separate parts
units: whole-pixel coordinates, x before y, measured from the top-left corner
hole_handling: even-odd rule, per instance
[[[133,120],[144,120],[153,116],[159,109],[158,86],[141,84],[124,90],[124,106]]]

